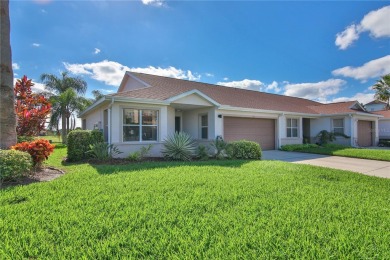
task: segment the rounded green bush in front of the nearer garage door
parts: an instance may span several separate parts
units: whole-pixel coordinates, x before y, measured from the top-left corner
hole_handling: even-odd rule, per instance
[[[261,147],[258,143],[240,140],[228,145],[227,153],[234,159],[261,159]]]

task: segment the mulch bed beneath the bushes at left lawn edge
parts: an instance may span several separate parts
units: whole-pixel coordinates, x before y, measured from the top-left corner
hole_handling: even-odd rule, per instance
[[[34,173],[30,176],[21,178],[17,181],[5,181],[0,186],[0,189],[17,186],[17,185],[27,185],[30,183],[35,182],[42,182],[42,181],[51,181],[54,180],[62,175],[64,175],[65,172],[61,171],[59,169],[53,168],[53,167],[45,167],[39,170],[34,171]]]

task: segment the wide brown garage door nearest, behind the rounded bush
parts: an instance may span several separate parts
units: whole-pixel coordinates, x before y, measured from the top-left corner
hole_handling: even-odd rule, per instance
[[[223,118],[225,141],[248,140],[261,145],[263,150],[275,149],[275,120],[243,117]]]

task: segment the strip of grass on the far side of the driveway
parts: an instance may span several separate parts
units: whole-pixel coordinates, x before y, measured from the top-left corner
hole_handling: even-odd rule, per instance
[[[316,153],[325,155],[337,155],[344,157],[390,161],[389,149],[361,149],[361,148],[340,148],[340,147],[317,147],[305,148],[296,152]]]

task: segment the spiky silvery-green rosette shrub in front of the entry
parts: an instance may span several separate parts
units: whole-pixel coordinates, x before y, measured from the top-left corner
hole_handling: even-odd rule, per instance
[[[161,151],[165,158],[171,160],[190,161],[195,152],[195,143],[185,132],[175,132],[164,140]]]

